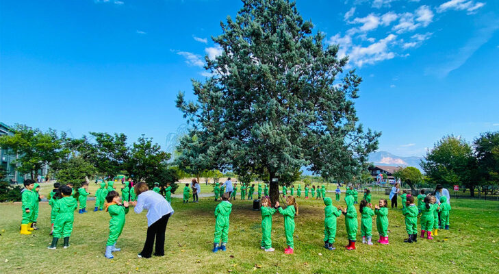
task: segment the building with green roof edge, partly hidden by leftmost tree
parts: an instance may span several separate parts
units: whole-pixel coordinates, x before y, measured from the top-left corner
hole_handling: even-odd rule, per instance
[[[2,135],[14,135],[12,129],[8,125],[0,122],[0,136]],[[16,171],[16,166],[14,161],[18,158],[18,154],[11,149],[2,149],[0,147],[0,168],[5,171],[5,181],[11,184],[23,184],[25,179],[29,178],[29,175],[23,175]],[[38,173],[41,176],[47,175],[48,168],[44,166]]]

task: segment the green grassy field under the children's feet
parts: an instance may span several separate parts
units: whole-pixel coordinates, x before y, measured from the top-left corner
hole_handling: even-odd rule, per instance
[[[92,184],[93,185],[93,184]],[[94,192],[95,186],[90,187]],[[210,187],[203,186],[203,192]],[[50,191],[42,186],[42,194]],[[331,197],[331,193],[328,195]],[[384,195],[373,195],[373,201]],[[342,198],[344,194],[342,194]],[[92,208],[93,201],[88,202]],[[344,202],[333,202],[344,206]],[[118,239],[123,251],[104,258],[109,215],[105,212],[75,214],[71,247],[47,249],[49,236],[48,203],[40,203],[40,229],[30,236],[18,233],[21,221],[19,203],[0,204],[0,269],[2,273],[498,273],[499,203],[453,200],[450,230],[439,232],[435,240],[407,244],[401,210],[389,210],[390,245],[360,243],[346,251],[348,243],[344,216],[338,219],[337,250],[323,246],[324,206],[322,201],[298,199],[295,253],[283,253],[283,218],[274,215],[272,240],[276,249],[259,249],[261,216],[251,210],[251,201],[233,201],[227,252],[212,253],[214,232],[212,198],[183,204],[173,199],[175,214],[166,228],[166,256],[138,259],[146,234],[145,214],[130,212],[125,230]],[[359,216],[360,217],[360,216]],[[359,220],[360,221],[360,220]],[[378,234],[374,226],[374,238]],[[418,227],[419,228],[419,227]]]

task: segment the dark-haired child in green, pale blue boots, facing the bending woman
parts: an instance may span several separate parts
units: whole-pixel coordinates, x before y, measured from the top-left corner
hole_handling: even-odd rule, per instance
[[[121,203],[120,195],[116,191],[107,193],[105,197],[105,211],[109,212],[111,219],[109,221],[109,237],[105,245],[105,258],[112,259],[112,252],[121,251],[116,247],[116,240],[123,232],[125,226],[125,214],[128,213],[128,201]]]

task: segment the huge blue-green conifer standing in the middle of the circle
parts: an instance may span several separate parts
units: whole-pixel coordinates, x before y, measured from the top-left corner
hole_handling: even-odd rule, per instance
[[[357,125],[352,100],[361,78],[350,71],[340,79],[348,58],[338,57],[338,46],[312,35],[312,23],[284,0],[243,1],[235,21],[220,25],[214,41],[222,54],[205,58],[215,75],[192,80],[196,103],[177,97],[190,130],[209,147],[202,158],[222,170],[268,171],[272,202],[279,199],[272,179],[302,166],[324,177],[340,168],[357,173],[380,134]]]

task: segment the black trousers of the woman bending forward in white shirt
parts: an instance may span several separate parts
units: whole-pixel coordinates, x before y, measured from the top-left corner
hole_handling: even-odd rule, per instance
[[[169,218],[170,213],[162,216],[161,219],[155,221],[155,223],[147,228],[146,243],[144,244],[144,249],[140,251],[140,256],[142,256],[142,258],[151,258],[151,253],[153,253],[154,238],[156,238],[154,256],[164,256],[164,234]]]

